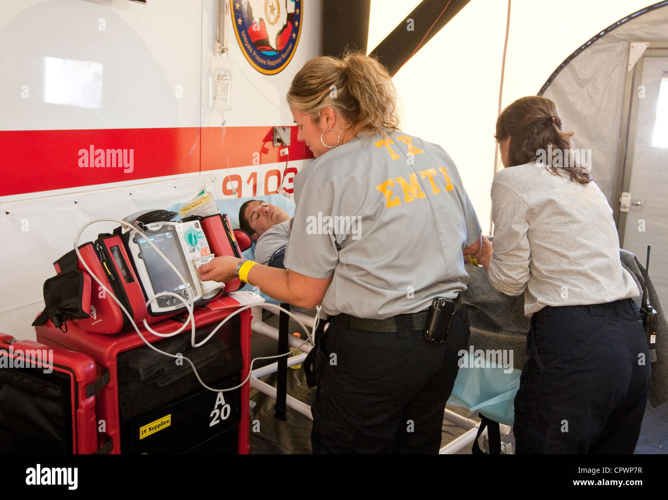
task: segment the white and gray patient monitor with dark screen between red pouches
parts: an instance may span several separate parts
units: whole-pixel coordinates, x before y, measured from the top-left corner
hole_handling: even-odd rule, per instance
[[[144,237],[137,231],[131,231],[128,249],[147,299],[156,293],[170,291],[186,301],[190,299],[192,303],[196,303],[200,299],[214,297],[224,288],[224,283],[200,281],[197,274],[197,267],[215,257],[210,253],[199,221],[157,222],[144,228],[146,237],[160,249],[185,280],[183,283],[179,279]],[[150,304],[153,314],[162,314],[181,307],[184,307],[182,301],[169,295],[158,297]]]

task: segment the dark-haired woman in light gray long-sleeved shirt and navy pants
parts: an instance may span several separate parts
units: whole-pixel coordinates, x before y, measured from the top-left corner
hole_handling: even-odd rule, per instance
[[[633,277],[612,209],[574,154],[554,102],[516,100],[498,117],[504,170],[492,184],[492,286],[524,293],[531,318],[515,398],[517,453],[633,453],[650,367]],[[508,168],[512,167],[512,168]]]

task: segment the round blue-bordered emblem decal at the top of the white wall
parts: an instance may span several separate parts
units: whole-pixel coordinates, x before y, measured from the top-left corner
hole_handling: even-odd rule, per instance
[[[241,51],[265,75],[281,72],[299,42],[301,0],[232,0],[232,24]]]

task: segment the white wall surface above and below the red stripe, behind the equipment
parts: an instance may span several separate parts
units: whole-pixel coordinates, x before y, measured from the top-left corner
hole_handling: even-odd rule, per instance
[[[319,55],[321,43],[321,1],[309,0],[303,10],[303,29],[293,59],[283,72],[271,76],[248,64],[228,19],[232,67],[232,110],[225,114],[228,130],[294,126],[285,94],[295,72],[307,59]],[[129,0],[0,1],[0,134],[140,128],[174,128],[178,132],[194,128],[193,143],[182,144],[182,149],[198,146],[203,157],[212,145],[200,144],[198,128],[220,126],[221,122],[220,115],[209,108],[208,95],[216,15],[216,0],[150,0],[146,5]],[[101,19],[104,30],[99,29]],[[44,57],[102,62],[103,107],[85,109],[45,102]],[[29,98],[21,96],[24,85],[29,86]],[[41,146],[31,144],[35,149]],[[77,144],[61,146],[73,147],[70,163],[75,175],[94,176],[98,172],[77,170]],[[118,147],[138,146],[131,142]],[[226,142],[227,152],[234,149],[235,144]],[[192,163],[199,165],[199,153],[191,156],[196,156]],[[136,168],[141,168],[137,156],[135,162]],[[290,162],[297,167],[304,163]],[[248,154],[247,165],[243,168],[248,172],[263,172],[272,166],[283,169],[285,162],[255,166]],[[220,170],[144,176],[113,184],[88,182],[85,186],[0,197],[0,332],[19,339],[35,338],[30,324],[43,307],[43,282],[54,275],[52,262],[72,248],[84,223],[170,207],[192,198],[204,184],[221,198],[222,178],[227,174],[224,166],[224,158],[220,158]],[[0,151],[5,179],[20,177],[22,168],[21,164],[3,162]],[[49,174],[60,175],[60,168],[54,166]],[[263,194],[261,188],[259,194]],[[81,243],[114,227],[113,223],[91,227]]]

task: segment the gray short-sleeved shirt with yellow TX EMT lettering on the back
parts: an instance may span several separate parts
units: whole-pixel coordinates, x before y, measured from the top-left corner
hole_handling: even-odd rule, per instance
[[[440,146],[403,132],[354,139],[295,179],[285,267],[332,277],[328,314],[385,319],[466,289],[462,249],[480,225]]]

